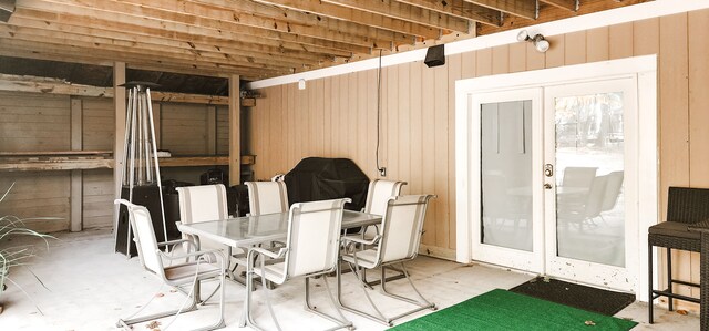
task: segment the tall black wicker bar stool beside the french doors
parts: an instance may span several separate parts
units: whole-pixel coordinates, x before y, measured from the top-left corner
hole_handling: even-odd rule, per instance
[[[700,251],[700,234],[689,231],[689,225],[709,218],[709,188],[670,187],[667,197],[667,221],[648,228],[648,322],[653,323],[653,300],[668,297],[668,308],[672,310],[672,299],[705,304],[700,299],[672,292],[672,285],[699,287],[698,283],[672,279],[671,249]],[[653,289],[653,247],[667,248],[667,289]]]

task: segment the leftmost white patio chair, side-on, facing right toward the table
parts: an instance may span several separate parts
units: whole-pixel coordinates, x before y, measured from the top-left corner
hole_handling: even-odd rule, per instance
[[[151,273],[155,275],[167,286],[179,289],[183,293],[191,299],[191,306],[184,309],[155,313],[151,316],[144,316],[138,318],[131,318],[127,320],[119,320],[116,325],[125,330],[133,330],[132,325],[142,323],[155,319],[161,319],[169,316],[177,316],[183,312],[193,311],[197,309],[199,287],[202,281],[216,280],[219,282],[219,317],[210,325],[203,327],[195,330],[215,330],[224,328],[224,276],[225,263],[224,255],[219,250],[209,251],[194,251],[178,256],[166,255],[160,250],[164,245],[179,245],[188,240],[173,240],[167,242],[157,244],[155,239],[155,230],[153,229],[153,223],[151,220],[150,211],[143,207],[131,204],[125,199],[116,199],[115,204],[123,204],[129,210],[129,219],[131,227],[133,228],[134,239],[137,247],[141,265]],[[188,261],[189,259],[192,261]],[[216,258],[216,260],[215,260]],[[163,260],[166,261],[186,261],[179,263],[168,263],[165,266]],[[191,289],[186,290],[183,287],[189,286]],[[140,311],[138,311],[140,312]]]

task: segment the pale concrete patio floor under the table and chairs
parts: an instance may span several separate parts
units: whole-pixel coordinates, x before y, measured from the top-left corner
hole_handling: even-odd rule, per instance
[[[0,314],[0,330],[115,330],[115,322],[126,318],[145,304],[156,293],[148,306],[150,309],[162,310],[166,307],[178,307],[184,296],[161,287],[161,281],[143,271],[137,258],[126,259],[113,252],[113,235],[107,230],[86,230],[83,232],[56,235],[58,240],[50,242],[49,251],[41,251],[34,258],[30,269],[48,289],[44,289],[27,269],[18,268],[11,278],[19,283],[35,301],[43,312],[40,313],[16,286],[9,285],[0,297],[4,311]],[[484,293],[495,288],[508,289],[533,276],[486,266],[465,266],[451,261],[419,257],[409,263],[415,285],[423,296],[439,308],[453,306],[463,300]],[[331,288],[336,286],[333,278],[328,278]],[[314,301],[329,307],[326,292],[320,285],[314,290]],[[210,287],[213,285],[206,285]],[[291,281],[271,291],[271,302],[285,330],[315,330],[329,328],[332,324],[319,317],[302,310],[302,281]],[[391,290],[412,292],[405,281],[394,281]],[[248,330],[238,327],[244,303],[244,287],[227,281],[226,287],[226,323],[223,330]],[[356,279],[345,275],[343,293],[347,302],[363,301],[361,290],[356,287]],[[255,293],[258,306],[256,319],[263,327],[275,330],[270,322],[263,290]],[[384,302],[384,314],[395,314],[408,308],[390,298],[373,294],[376,302]],[[169,327],[168,330],[189,330],[199,324],[213,321],[218,313],[216,300],[196,312],[188,312]],[[362,306],[364,307],[364,306]],[[430,311],[423,311],[395,321],[400,324],[415,319]],[[345,312],[357,330],[386,330],[359,316]],[[617,317],[639,322],[634,330],[699,330],[699,318],[693,314],[681,316],[656,308],[655,324],[647,324],[646,303],[633,303]],[[168,322],[163,323],[160,330]],[[150,330],[143,325],[134,330]]]

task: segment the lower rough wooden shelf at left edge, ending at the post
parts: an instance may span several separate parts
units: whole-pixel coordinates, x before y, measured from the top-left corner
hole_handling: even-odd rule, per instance
[[[0,152],[0,172],[43,172],[101,168],[113,168],[113,152]]]

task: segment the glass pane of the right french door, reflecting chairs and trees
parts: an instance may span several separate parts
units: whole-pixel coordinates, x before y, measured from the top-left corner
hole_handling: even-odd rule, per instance
[[[554,100],[561,257],[625,267],[623,93]]]

